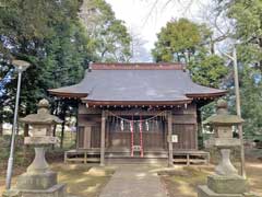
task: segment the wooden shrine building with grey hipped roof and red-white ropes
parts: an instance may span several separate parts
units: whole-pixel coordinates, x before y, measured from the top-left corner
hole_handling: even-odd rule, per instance
[[[81,101],[67,161],[169,165],[207,154],[198,150],[200,107],[226,94],[192,82],[182,63],[92,63],[79,84],[49,92]]]

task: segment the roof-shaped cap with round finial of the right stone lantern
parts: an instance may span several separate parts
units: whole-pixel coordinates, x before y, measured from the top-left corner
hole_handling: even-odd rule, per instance
[[[245,120],[237,116],[237,115],[230,115],[228,114],[227,109],[227,102],[224,100],[219,100],[217,102],[217,109],[216,115],[209,117],[205,120],[205,124],[209,125],[239,125],[242,124]]]

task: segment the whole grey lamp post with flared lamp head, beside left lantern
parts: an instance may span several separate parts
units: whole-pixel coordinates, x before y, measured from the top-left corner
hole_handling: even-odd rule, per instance
[[[20,101],[22,72],[25,71],[29,67],[29,63],[26,61],[23,61],[23,60],[13,60],[12,65],[15,67],[16,71],[19,72],[19,80],[17,80],[17,89],[16,89],[16,97],[15,97],[15,108],[14,108],[14,117],[13,117],[10,154],[9,154],[8,170],[7,170],[7,183],[5,183],[7,190],[10,189],[11,179],[12,179],[14,140],[15,140],[15,135],[17,131],[17,113],[19,113],[19,101]]]

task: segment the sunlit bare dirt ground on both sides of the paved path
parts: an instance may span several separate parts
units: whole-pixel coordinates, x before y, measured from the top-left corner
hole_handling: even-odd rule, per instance
[[[246,157],[246,171],[250,188],[262,197],[262,150],[247,151]],[[239,167],[239,164],[237,165]],[[83,197],[97,197],[115,172],[112,166],[99,167],[98,165],[63,164],[61,162],[50,166],[58,172],[58,181],[67,183],[69,193]],[[15,167],[13,184],[16,182],[16,176],[25,170],[26,167]],[[206,176],[214,172],[214,165],[177,165],[172,170],[163,167],[158,167],[158,175],[168,190],[169,197],[196,197],[196,186],[205,184]],[[5,169],[0,167],[0,196],[4,189],[4,176]]]

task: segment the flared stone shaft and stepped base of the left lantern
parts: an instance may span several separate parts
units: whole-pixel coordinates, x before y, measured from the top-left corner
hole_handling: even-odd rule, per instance
[[[45,148],[35,148],[35,159],[26,173],[17,177],[13,189],[22,197],[66,197],[66,184],[57,183],[57,173],[49,170]]]

